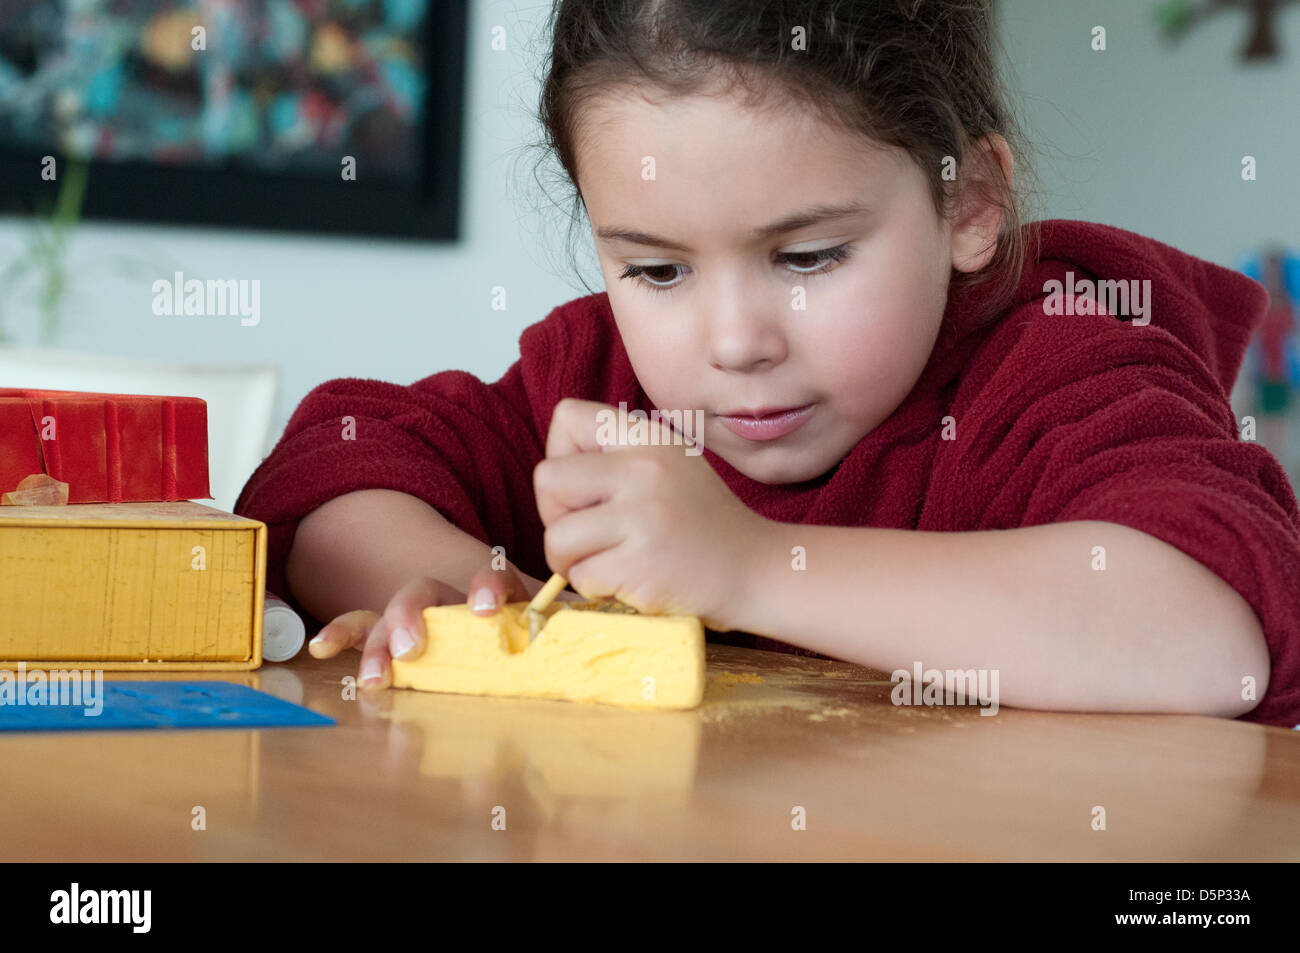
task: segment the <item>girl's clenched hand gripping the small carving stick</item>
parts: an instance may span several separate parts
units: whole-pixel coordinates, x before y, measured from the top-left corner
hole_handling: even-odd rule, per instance
[[[770,521],[702,452],[688,455],[681,437],[673,443],[667,423],[640,424],[660,429],[658,446],[602,445],[602,410],[618,419],[618,408],[575,398],[551,417],[546,459],[533,471],[547,564],[585,598],[731,628]]]

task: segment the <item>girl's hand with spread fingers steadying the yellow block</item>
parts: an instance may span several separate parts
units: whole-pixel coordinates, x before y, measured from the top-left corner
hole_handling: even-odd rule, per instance
[[[534,592],[542,588],[541,581],[532,581],[536,582]],[[563,593],[562,598],[569,595]],[[359,608],[338,616],[321,628],[307,650],[313,658],[333,658],[343,649],[356,649],[361,653],[358,672],[361,688],[387,688],[393,684],[391,659],[408,662],[424,653],[422,610],[426,606],[468,602],[474,615],[491,615],[507,602],[528,602],[530,598],[524,577],[512,566],[504,569],[493,569],[490,564],[481,568],[469,582],[468,599],[460,590],[426,576],[402,586],[382,615]]]

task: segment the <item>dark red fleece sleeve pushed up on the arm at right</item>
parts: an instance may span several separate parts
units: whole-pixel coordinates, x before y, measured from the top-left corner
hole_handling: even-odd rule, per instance
[[[1300,514],[1286,472],[1240,438],[1213,372],[1174,335],[1026,315],[982,346],[958,389],[924,528],[1100,520],[1175,546],[1260,619],[1269,685],[1242,718],[1300,723]]]

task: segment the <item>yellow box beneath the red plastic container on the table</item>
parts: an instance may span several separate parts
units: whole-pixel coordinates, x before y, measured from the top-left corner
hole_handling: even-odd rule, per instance
[[[266,527],[202,503],[0,507],[0,667],[261,664]]]

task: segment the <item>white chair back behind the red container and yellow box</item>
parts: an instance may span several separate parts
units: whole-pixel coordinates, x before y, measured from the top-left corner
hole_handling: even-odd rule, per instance
[[[198,397],[208,404],[208,481],[234,508],[239,490],[270,450],[278,372],[270,364],[159,364],[96,354],[0,347],[0,387]]]

